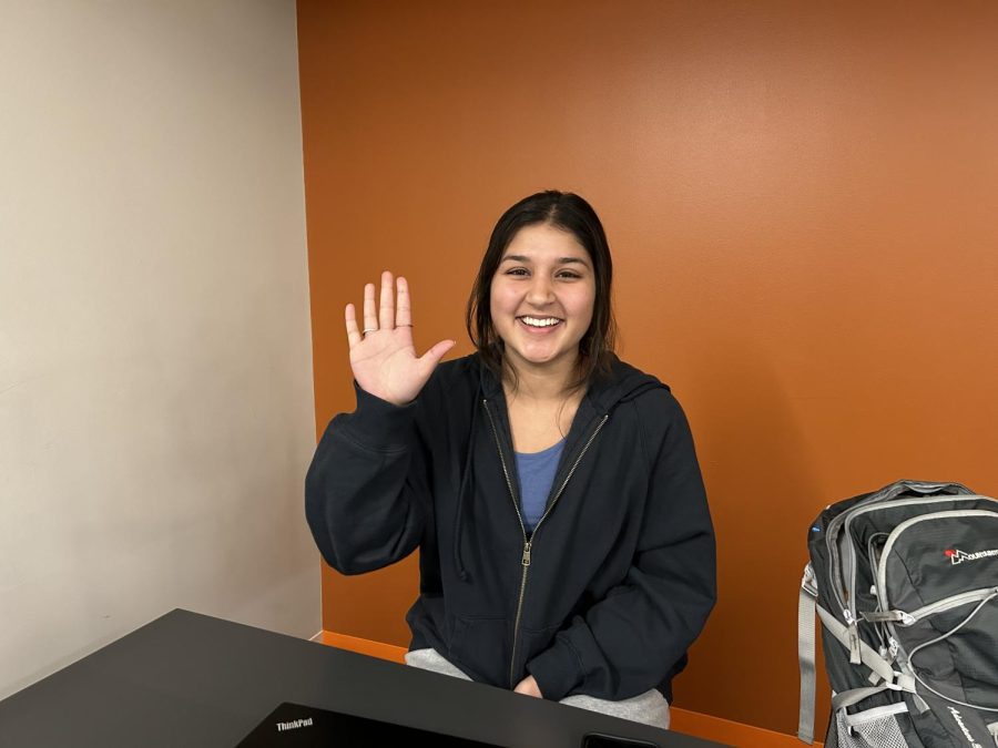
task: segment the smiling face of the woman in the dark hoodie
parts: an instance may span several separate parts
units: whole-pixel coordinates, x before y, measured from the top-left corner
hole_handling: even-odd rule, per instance
[[[508,362],[518,370],[574,363],[594,301],[592,260],[576,237],[546,224],[521,228],[502,254],[490,295]]]

